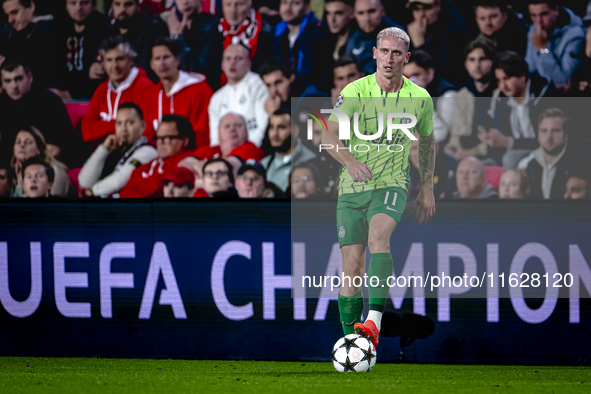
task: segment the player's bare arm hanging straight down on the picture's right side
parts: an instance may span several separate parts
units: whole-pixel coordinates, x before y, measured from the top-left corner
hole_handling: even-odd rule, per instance
[[[433,134],[433,101],[429,98],[419,123],[419,166],[421,173],[421,191],[417,196],[413,212],[417,206],[419,213],[416,223],[428,223],[435,214],[435,196],[433,195],[433,173],[435,171],[435,136]]]

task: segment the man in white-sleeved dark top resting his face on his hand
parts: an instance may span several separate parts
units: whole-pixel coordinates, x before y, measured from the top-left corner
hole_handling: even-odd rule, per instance
[[[156,149],[143,136],[146,122],[140,107],[123,103],[117,111],[116,134],[109,135],[88,158],[78,182],[87,196],[107,197],[127,184],[133,170],[156,157]]]

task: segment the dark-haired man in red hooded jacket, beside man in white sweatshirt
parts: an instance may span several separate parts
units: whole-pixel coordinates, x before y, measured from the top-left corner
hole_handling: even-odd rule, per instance
[[[152,47],[150,66],[160,82],[150,90],[148,123],[152,123],[156,130],[163,115],[184,116],[193,125],[196,145],[209,145],[207,108],[213,91],[203,74],[179,70],[180,54],[178,44],[166,37],[156,40]],[[150,135],[147,137],[151,138]]]

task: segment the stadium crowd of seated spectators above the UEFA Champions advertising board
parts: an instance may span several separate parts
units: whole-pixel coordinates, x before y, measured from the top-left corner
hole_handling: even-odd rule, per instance
[[[0,197],[335,198],[291,98],[334,104],[392,26],[434,99],[436,198],[591,195],[591,2],[1,3]]]

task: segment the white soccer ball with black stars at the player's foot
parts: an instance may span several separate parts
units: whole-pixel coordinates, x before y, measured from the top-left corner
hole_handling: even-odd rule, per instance
[[[375,364],[376,347],[361,335],[346,335],[332,348],[332,365],[339,372],[369,372]]]

